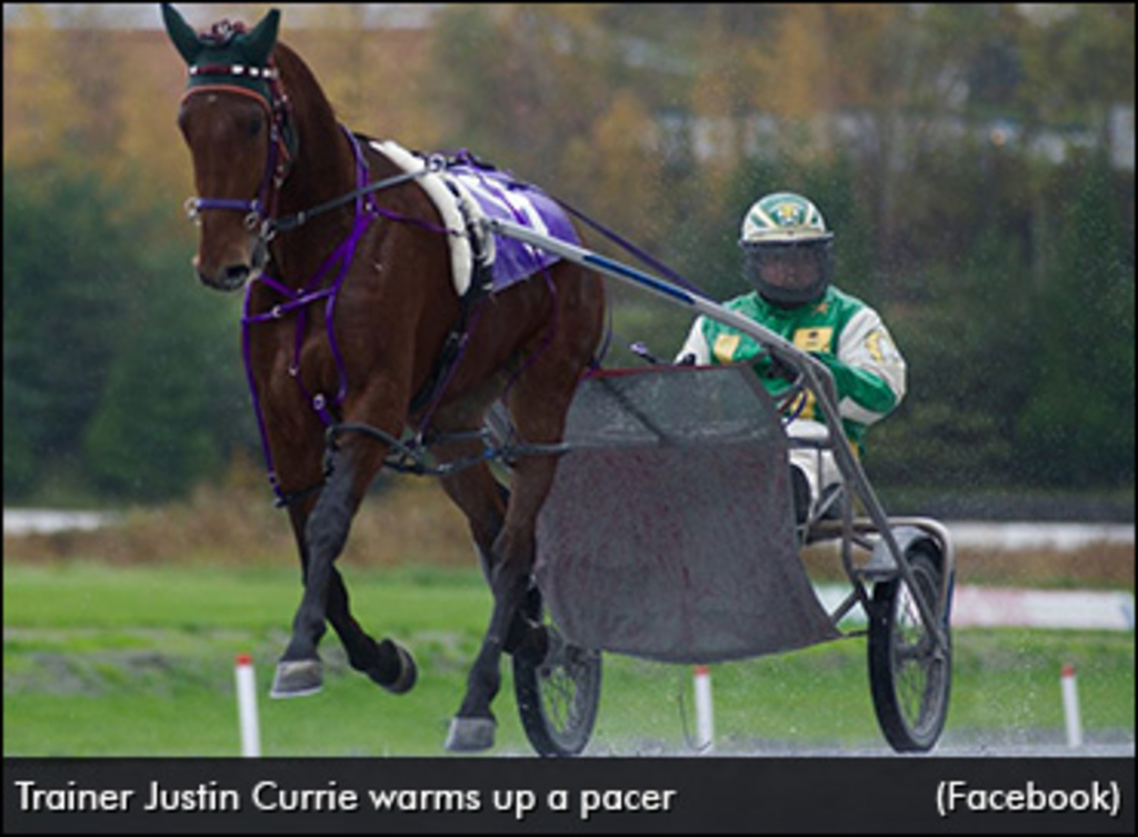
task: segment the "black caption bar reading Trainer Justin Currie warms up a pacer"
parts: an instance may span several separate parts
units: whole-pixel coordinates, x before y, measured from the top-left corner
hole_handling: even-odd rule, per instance
[[[1133,758],[6,758],[5,834],[1133,834]]]

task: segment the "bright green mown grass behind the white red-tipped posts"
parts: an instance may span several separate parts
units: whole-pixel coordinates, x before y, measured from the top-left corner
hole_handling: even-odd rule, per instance
[[[116,566],[73,560],[5,569],[5,755],[226,756],[238,753],[233,657],[256,660],[265,755],[444,755],[489,614],[475,569],[344,567],[365,626],[420,665],[394,697],[323,646],[325,688],[267,699],[299,600],[298,571]],[[943,740],[1063,739],[1058,672],[1079,672],[1087,739],[1133,741],[1133,634],[960,630]],[[494,753],[529,754],[509,664]],[[717,744],[838,742],[888,753],[869,699],[865,641],[842,640],[714,668]],[[607,656],[589,752],[682,753],[691,671]]]

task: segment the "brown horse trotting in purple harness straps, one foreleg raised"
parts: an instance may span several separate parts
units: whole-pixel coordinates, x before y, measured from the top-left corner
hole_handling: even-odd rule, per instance
[[[278,40],[279,10],[203,33],[162,10],[189,68],[178,125],[198,195],[188,202],[200,228],[193,266],[209,288],[245,289],[248,383],[303,571],[272,695],[320,690],[325,622],[353,668],[393,694],[414,684],[411,653],[353,616],[336,559],[369,485],[418,426],[440,462],[476,462],[442,484],[465,515],[493,608],[445,747],[487,749],[502,654],[539,662],[551,643],[530,605],[536,518],[556,468],[541,451],[561,442],[596,362],[601,277],[553,260],[469,302],[424,178],[339,123],[312,69]],[[498,401],[537,451],[512,462],[508,489],[479,460]]]

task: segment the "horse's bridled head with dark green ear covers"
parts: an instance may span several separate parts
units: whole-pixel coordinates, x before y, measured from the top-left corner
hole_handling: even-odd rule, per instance
[[[201,229],[193,264],[205,285],[234,290],[267,261],[271,219],[295,154],[272,58],[280,11],[251,30],[222,20],[201,34],[171,5],[162,14],[189,67],[178,125],[198,192],[187,202]]]

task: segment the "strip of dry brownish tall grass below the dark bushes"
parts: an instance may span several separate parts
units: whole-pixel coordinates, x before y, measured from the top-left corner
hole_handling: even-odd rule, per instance
[[[470,569],[465,519],[437,481],[384,476],[352,526],[340,558],[348,567]],[[264,476],[234,465],[221,486],[200,486],[184,502],[130,510],[122,525],[94,531],[6,535],[5,556],[22,564],[66,564],[98,556],[114,565],[279,568],[295,560],[286,515],[272,507]],[[1132,544],[1092,543],[1070,551],[957,550],[957,583],[991,586],[1135,590]],[[844,581],[828,548],[807,550],[817,581]]]

